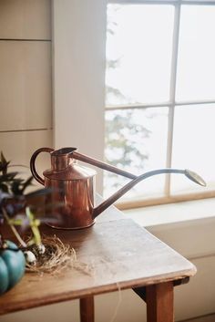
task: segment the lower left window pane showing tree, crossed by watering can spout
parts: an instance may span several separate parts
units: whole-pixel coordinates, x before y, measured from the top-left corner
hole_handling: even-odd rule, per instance
[[[134,174],[163,168],[166,164],[168,108],[108,110],[106,112],[106,161]],[[138,184],[126,197],[161,193],[164,176]],[[128,182],[105,171],[105,195]]]

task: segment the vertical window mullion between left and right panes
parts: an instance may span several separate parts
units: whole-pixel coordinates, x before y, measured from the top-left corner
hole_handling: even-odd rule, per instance
[[[176,77],[177,77],[177,61],[179,49],[179,20],[180,20],[180,5],[175,5],[175,18],[173,28],[172,42],[172,58],[171,58],[171,76],[170,76],[170,91],[169,100],[169,129],[168,129],[168,147],[167,147],[167,167],[171,167],[172,145],[173,145],[173,122],[175,112],[175,94],[176,94]],[[166,175],[165,194],[170,194],[170,174]]]

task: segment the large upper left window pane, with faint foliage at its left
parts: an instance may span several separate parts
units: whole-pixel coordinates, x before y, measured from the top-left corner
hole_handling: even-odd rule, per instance
[[[173,5],[107,5],[107,105],[169,100]]]

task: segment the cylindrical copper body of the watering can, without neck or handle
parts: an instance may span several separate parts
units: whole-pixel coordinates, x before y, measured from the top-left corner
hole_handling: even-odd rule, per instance
[[[44,171],[45,187],[52,193],[46,204],[53,204],[56,228],[78,229],[91,226],[93,218],[96,171],[71,164],[65,171]],[[50,224],[50,223],[49,223]]]

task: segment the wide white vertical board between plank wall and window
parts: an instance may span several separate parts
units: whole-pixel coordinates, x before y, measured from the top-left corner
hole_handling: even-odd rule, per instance
[[[106,1],[53,1],[55,145],[77,147],[99,160],[104,151],[105,44]]]

